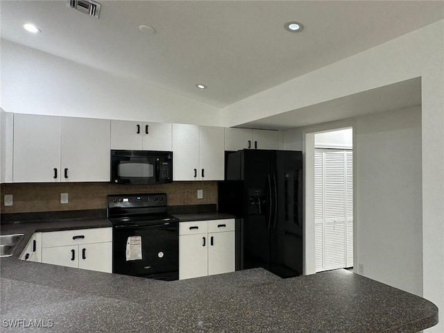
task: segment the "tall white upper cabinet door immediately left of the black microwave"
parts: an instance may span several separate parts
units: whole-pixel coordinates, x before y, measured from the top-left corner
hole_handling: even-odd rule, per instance
[[[62,181],[110,181],[110,121],[62,118]]]

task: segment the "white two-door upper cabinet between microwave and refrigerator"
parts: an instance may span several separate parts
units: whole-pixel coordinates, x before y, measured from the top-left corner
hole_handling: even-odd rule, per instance
[[[223,128],[173,124],[173,180],[223,180]]]

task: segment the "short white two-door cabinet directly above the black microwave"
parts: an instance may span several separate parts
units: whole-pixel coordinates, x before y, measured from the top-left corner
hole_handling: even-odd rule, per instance
[[[111,149],[171,151],[171,123],[111,121]]]

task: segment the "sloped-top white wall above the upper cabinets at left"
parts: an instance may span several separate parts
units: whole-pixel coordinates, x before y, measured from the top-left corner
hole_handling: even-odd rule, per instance
[[[6,112],[220,126],[220,110],[130,78],[1,40]]]

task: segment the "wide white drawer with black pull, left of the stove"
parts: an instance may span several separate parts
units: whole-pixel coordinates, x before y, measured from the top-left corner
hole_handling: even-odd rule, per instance
[[[112,241],[112,228],[42,232],[42,248]]]

